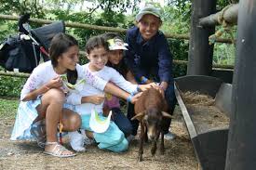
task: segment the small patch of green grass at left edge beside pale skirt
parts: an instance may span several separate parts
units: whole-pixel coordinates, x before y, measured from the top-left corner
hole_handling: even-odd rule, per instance
[[[0,119],[15,119],[19,106],[19,99],[0,98]]]

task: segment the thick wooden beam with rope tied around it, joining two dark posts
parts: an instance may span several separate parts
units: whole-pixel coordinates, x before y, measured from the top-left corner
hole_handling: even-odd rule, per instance
[[[199,20],[199,25],[203,27],[220,25],[219,18],[222,18],[222,20],[225,20],[228,24],[235,25],[237,23],[238,7],[239,5],[236,4],[226,9],[224,8],[223,11],[217,12],[216,14],[201,18]]]

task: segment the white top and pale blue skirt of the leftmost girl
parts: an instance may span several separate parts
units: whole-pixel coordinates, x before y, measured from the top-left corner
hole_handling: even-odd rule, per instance
[[[101,78],[92,75],[90,72],[85,71],[82,66],[76,64],[76,71],[78,73],[78,80],[85,79],[86,82],[90,85],[103,90],[107,81],[102,80]],[[34,100],[21,101],[25,96],[33,91],[34,89],[39,88],[42,85],[47,85],[47,83],[58,76],[52,67],[51,61],[47,61],[38,65],[30,77],[28,78],[26,84],[23,86],[20,94],[20,105],[16,115],[16,121],[12,130],[10,139],[33,139],[33,136],[30,133],[31,125],[34,122],[34,119],[37,117],[38,113],[36,107],[41,104],[41,96],[38,96]],[[63,88],[65,88],[63,86]],[[74,93],[74,91],[73,91]],[[79,90],[77,90],[79,93]],[[65,108],[72,109],[72,105],[64,104]]]

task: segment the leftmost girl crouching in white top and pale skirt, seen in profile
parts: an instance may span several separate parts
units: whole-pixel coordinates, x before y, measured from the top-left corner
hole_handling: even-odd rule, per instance
[[[129,94],[85,72],[77,64],[77,41],[68,34],[58,33],[54,36],[49,56],[51,60],[37,66],[23,86],[11,139],[35,138],[39,147],[45,148],[45,153],[70,157],[75,155],[74,152],[57,142],[58,123],[63,124],[64,131],[75,131],[80,127],[81,119],[74,111],[63,108],[68,90],[63,86],[60,75],[66,74],[68,82],[73,85],[76,80],[86,79],[88,84],[118,93],[122,98],[128,98]]]

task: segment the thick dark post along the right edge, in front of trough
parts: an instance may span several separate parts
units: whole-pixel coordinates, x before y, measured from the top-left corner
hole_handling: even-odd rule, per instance
[[[256,0],[240,1],[225,170],[256,168]]]

